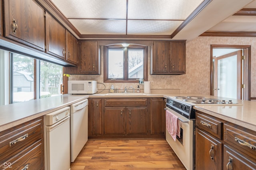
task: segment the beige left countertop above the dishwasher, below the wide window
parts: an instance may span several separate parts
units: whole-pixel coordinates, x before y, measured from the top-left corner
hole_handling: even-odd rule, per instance
[[[0,131],[46,115],[88,98],[88,95],[60,95],[0,106]]]

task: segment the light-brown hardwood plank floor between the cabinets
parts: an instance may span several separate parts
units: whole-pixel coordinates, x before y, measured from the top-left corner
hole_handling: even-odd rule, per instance
[[[186,170],[165,139],[89,139],[71,170]]]

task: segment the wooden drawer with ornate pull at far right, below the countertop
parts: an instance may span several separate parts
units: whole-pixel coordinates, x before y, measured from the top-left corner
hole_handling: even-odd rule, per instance
[[[224,123],[224,142],[256,159],[255,131],[232,123]]]

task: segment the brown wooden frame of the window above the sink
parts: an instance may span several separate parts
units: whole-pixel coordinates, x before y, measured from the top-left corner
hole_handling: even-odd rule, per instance
[[[123,79],[108,79],[108,49],[124,49],[124,78]],[[121,44],[106,45],[104,46],[104,82],[138,82],[138,78],[128,78],[128,49],[143,49],[143,79],[148,81],[148,46],[130,44],[128,47],[123,47]]]

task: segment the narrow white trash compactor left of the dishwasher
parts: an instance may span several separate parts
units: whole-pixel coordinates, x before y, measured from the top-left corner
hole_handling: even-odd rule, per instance
[[[70,107],[44,116],[46,170],[70,170]]]

